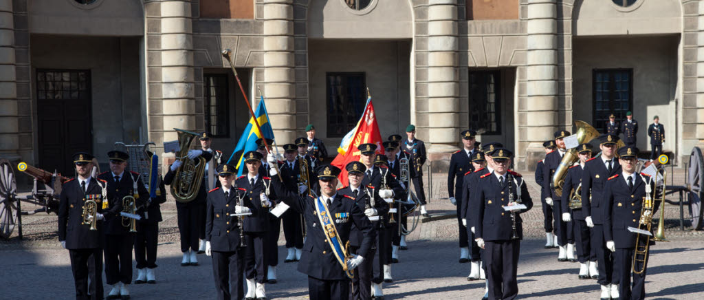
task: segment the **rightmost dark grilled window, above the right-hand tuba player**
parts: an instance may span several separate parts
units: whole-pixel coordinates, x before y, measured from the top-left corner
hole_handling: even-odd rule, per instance
[[[624,120],[633,109],[633,69],[593,70],[593,125],[605,132],[612,113]]]

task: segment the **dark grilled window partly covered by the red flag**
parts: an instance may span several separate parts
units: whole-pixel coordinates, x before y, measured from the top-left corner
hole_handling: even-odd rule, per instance
[[[365,73],[327,73],[327,137],[344,137],[367,103]]]

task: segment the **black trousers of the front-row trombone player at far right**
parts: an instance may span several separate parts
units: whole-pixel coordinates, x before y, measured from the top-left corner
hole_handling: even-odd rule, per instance
[[[631,270],[633,268],[634,252],[634,248],[618,248],[616,252],[614,252],[616,256],[614,263],[622,270],[622,272],[619,273],[621,285],[618,286],[621,299],[646,299],[646,273],[648,273],[647,261],[648,256],[650,256],[650,251],[648,251],[648,255],[646,255],[646,266],[643,266],[643,262],[641,261],[636,262],[637,269],[643,270],[643,273],[633,273],[633,287],[631,288]]]

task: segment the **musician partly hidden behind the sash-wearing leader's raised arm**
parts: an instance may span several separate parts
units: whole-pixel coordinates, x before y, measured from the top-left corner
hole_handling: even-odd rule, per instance
[[[282,163],[279,170],[281,170],[281,177],[284,180],[284,187],[291,192],[298,192],[298,176],[301,175],[299,172],[300,165],[296,157],[298,156],[296,152],[295,144],[285,144],[284,145],[284,162]],[[308,168],[309,171],[310,167]],[[310,177],[310,172],[308,176]],[[286,249],[288,251],[284,263],[290,263],[292,261],[298,261],[301,258],[301,249],[303,249],[303,223],[300,213],[296,213],[294,210],[289,209],[281,216],[284,223],[284,237],[286,237]]]

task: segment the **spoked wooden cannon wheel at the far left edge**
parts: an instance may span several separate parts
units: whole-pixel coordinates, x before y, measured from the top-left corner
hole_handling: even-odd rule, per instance
[[[17,224],[17,182],[10,162],[0,159],[0,237],[9,239]]]

